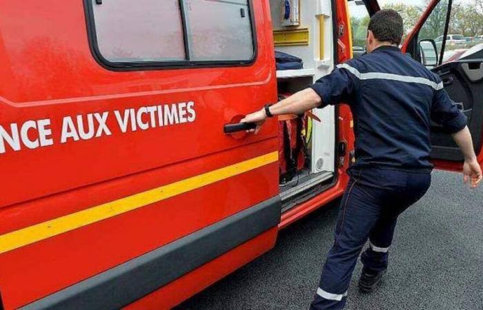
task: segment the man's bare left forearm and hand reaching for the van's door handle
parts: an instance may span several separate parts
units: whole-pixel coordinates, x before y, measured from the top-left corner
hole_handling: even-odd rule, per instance
[[[306,90],[301,90],[296,92],[292,96],[272,105],[270,107],[270,113],[273,116],[282,114],[302,114],[306,111],[312,110],[315,107],[319,107],[322,104],[322,99],[312,88],[307,88]],[[264,124],[267,115],[265,109],[253,112],[245,116],[241,123],[256,123],[257,128],[255,133],[260,130],[260,127]]]

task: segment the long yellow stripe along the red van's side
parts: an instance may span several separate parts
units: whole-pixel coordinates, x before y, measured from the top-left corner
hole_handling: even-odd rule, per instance
[[[106,218],[112,218],[112,216],[124,214],[128,211],[150,205],[151,203],[157,203],[161,200],[190,192],[193,189],[204,187],[220,180],[225,180],[231,176],[243,174],[244,172],[257,169],[270,163],[275,163],[276,161],[278,161],[278,152],[268,153],[263,156],[252,158],[248,161],[236,163],[235,165],[186,178],[176,183],[150,189],[146,192],[114,200],[110,203],[104,203],[96,207],[91,207],[53,220],[48,220],[37,225],[12,231],[0,236],[0,254],[63,234],[79,227],[99,222],[100,220],[105,220]]]

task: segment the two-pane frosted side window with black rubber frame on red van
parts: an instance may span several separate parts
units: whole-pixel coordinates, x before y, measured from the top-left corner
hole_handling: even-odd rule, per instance
[[[116,68],[250,63],[250,0],[85,0],[91,45]]]

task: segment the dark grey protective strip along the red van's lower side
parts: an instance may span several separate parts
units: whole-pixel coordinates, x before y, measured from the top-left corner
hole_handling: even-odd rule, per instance
[[[121,309],[276,227],[281,209],[282,200],[275,196],[21,309]]]

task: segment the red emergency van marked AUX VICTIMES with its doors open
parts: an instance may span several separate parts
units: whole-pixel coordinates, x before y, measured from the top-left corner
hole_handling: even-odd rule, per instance
[[[224,126],[351,58],[346,0],[0,4],[4,309],[174,307],[342,194],[348,107]],[[276,70],[274,46],[302,68]],[[480,152],[481,61],[435,70]],[[437,165],[460,169],[435,131]]]

